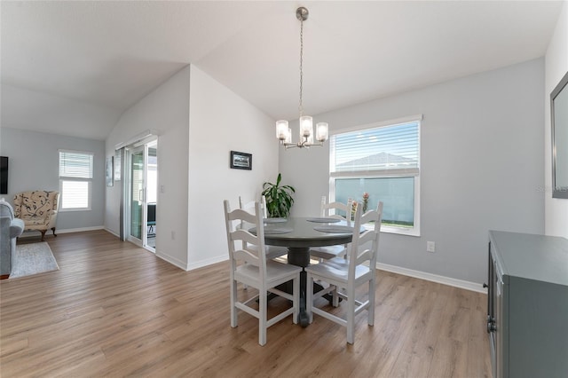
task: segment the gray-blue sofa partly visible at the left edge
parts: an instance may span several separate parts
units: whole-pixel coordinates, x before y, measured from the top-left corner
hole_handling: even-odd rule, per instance
[[[10,203],[0,200],[0,280],[12,272],[16,254],[16,240],[24,232],[24,221],[14,217]]]

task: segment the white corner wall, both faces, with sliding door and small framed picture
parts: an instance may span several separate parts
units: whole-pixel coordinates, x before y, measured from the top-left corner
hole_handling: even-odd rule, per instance
[[[278,174],[274,121],[187,66],[132,106],[106,140],[115,144],[147,129],[158,138],[156,254],[190,270],[228,258],[223,200],[238,206],[242,195],[260,196],[264,181]],[[230,151],[253,154],[253,169],[229,169]],[[120,230],[120,186],[106,190],[106,227]],[[173,232],[173,234],[172,234]]]

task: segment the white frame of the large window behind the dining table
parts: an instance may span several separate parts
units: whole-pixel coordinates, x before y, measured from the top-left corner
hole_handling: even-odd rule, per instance
[[[334,172],[335,151],[330,146],[329,148],[329,198],[330,201],[335,201],[335,179],[336,178],[383,178],[383,177],[414,177],[414,226],[413,227],[397,227],[394,225],[381,225],[381,232],[397,233],[400,235],[408,236],[421,236],[420,233],[420,165],[422,162],[421,150],[421,129],[422,129],[422,114],[411,115],[408,117],[398,118],[383,122],[368,123],[353,128],[346,128],[342,130],[334,130],[332,135],[343,134],[353,131],[377,129],[386,126],[398,125],[401,123],[418,122],[418,156],[419,168],[417,173],[405,172],[405,169],[390,169],[383,172]],[[332,200],[333,199],[333,200]]]

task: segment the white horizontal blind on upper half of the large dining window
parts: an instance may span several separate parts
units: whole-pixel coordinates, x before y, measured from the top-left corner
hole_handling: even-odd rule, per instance
[[[420,122],[336,134],[330,141],[330,173],[401,171],[418,175]]]

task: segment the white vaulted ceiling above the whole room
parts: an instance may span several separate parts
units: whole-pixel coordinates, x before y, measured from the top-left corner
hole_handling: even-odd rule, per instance
[[[3,126],[104,139],[187,64],[294,119],[300,5],[304,109],[319,114],[541,57],[562,2],[4,0]]]

